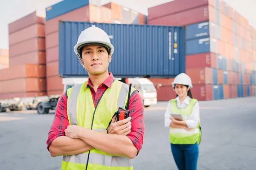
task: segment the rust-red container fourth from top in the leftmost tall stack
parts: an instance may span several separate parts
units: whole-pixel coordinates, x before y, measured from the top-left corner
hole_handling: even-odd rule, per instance
[[[30,64],[45,64],[45,52],[44,51],[32,51],[26,54],[10,58],[10,67],[15,65]]]

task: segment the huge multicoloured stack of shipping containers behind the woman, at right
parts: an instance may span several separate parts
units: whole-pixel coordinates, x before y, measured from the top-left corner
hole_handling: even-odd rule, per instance
[[[255,40],[256,31],[227,3],[175,0],[148,8],[148,24],[186,26],[186,74],[192,79],[195,98],[253,95],[252,34]]]

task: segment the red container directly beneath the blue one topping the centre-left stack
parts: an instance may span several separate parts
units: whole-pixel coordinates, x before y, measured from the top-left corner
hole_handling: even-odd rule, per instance
[[[59,17],[52,18],[47,20],[45,23],[45,34],[51,34],[58,31],[58,24],[60,20],[64,21],[81,21],[88,22],[89,19],[89,6],[84,6],[76,10],[70,11],[66,14],[63,14]]]

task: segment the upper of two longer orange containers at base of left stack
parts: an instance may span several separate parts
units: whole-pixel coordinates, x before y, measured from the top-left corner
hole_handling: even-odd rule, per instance
[[[46,91],[45,78],[20,78],[0,82],[0,94]]]

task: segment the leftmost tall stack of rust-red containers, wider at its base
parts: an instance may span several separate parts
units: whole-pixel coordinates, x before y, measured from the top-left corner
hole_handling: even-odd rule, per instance
[[[46,95],[45,19],[33,12],[9,24],[9,68],[0,70],[0,98]]]

